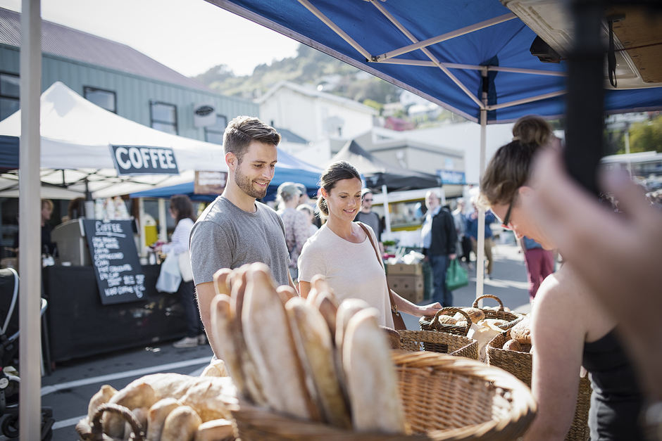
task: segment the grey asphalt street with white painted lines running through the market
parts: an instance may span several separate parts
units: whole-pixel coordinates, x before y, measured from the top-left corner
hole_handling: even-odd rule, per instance
[[[468,286],[454,291],[454,306],[467,307],[475,299],[475,271]],[[497,295],[506,307],[529,312],[529,299],[522,255],[515,245],[494,248],[492,279],[485,281],[485,294]],[[485,305],[496,305],[486,300]],[[409,329],[418,329],[418,319],[404,314]],[[42,406],[54,411],[54,441],[73,441],[75,425],[87,414],[87,404],[101,385],[119,390],[136,378],[157,372],[198,375],[211,359],[208,345],[175,349],[173,342],[154,347],[135,347],[96,357],[61,362],[50,376],[42,378]],[[6,440],[0,436],[0,441]]]

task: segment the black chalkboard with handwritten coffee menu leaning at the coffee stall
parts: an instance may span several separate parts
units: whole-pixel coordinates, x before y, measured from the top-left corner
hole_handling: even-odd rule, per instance
[[[85,219],[83,225],[101,304],[140,300],[145,276],[133,241],[131,221]]]

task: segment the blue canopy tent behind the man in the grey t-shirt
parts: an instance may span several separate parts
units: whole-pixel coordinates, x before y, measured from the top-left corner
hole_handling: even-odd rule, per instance
[[[308,191],[308,196],[314,197],[317,194],[318,182],[320,181],[320,174],[322,170],[307,162],[294,158],[294,156],[285,153],[280,148],[278,149],[278,162],[276,163],[276,170],[274,177],[267,189],[267,196],[264,200],[274,200],[278,186],[283,182],[296,182],[304,184]],[[185,194],[191,200],[198,200],[201,202],[211,202],[216,199],[218,195],[199,195],[194,193],[194,183],[187,182],[185,184],[178,184],[173,186],[151,188],[146,191],[139,191],[131,193],[131,198],[170,198],[176,194]]]

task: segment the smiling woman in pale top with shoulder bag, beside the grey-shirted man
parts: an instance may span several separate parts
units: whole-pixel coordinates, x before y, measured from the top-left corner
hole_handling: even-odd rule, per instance
[[[380,324],[393,328],[391,306],[382,260],[377,260],[370,239],[354,221],[361,210],[361,177],[349,162],[335,162],[320,178],[320,215],[327,222],[308,239],[299,257],[299,292],[307,297],[311,279],[325,276],[339,301],[360,298],[380,312]],[[374,243],[377,237],[366,225]],[[439,303],[417,306],[394,293],[400,312],[417,317],[434,315]]]

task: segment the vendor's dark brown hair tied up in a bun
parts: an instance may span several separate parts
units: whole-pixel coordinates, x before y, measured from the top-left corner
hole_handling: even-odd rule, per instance
[[[537,115],[521,117],[513,126],[513,141],[502,146],[485,168],[476,205],[511,203],[529,179],[535,153],[554,138],[551,126]]]

